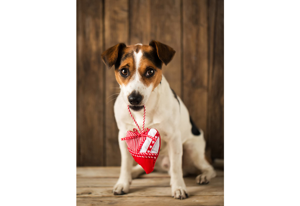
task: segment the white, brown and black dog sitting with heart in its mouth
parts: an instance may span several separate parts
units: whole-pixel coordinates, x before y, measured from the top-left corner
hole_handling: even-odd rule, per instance
[[[133,167],[126,142],[121,141],[128,130],[136,127],[128,114],[128,105],[140,125],[145,105],[145,126],[157,129],[161,135],[155,169],[169,172],[172,197],[188,197],[184,175],[196,173],[198,184],[207,184],[216,176],[214,168],[205,159],[203,131],[196,128],[186,106],[162,74],[163,64],[167,65],[174,55],[174,49],[155,40],[150,41],[149,46],[119,43],[101,55],[107,67],[115,66],[121,89],[114,104],[122,158],[120,176],[113,187],[114,195],[128,193],[132,179],[144,173],[140,165]]]

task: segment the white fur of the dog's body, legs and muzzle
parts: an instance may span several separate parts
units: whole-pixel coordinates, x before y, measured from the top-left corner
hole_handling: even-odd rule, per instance
[[[135,57],[140,57],[139,53],[135,54]],[[139,62],[137,58],[136,62]],[[138,74],[136,73],[136,76],[128,86],[121,87],[121,92],[117,97],[114,112],[119,128],[119,146],[122,161],[120,177],[113,192],[115,194],[122,194],[122,191],[128,193],[132,178],[136,178],[139,174],[143,173],[143,169],[140,166],[134,167],[132,171],[133,158],[127,151],[126,142],[121,141],[121,138],[125,137],[128,130],[136,128],[134,121],[128,113],[128,100],[126,98],[126,95],[129,95],[131,90],[136,89],[138,92],[143,93],[144,99],[145,96],[148,96],[146,101],[143,102],[146,106],[145,127],[149,129],[155,128],[161,135],[161,150],[155,164],[155,169],[168,169],[171,176],[171,195],[178,199],[186,198],[185,193],[187,193],[187,190],[183,174],[202,170],[202,174],[196,178],[196,182],[200,184],[207,183],[216,175],[213,167],[205,160],[203,131],[201,131],[200,136],[194,136],[191,133],[192,126],[188,110],[179,97],[180,105],[177,99],[174,98],[174,94],[164,76],[162,76],[161,84],[154,91],[152,91],[152,88],[153,85],[146,88],[139,81]],[[137,123],[143,125],[143,109],[139,112],[131,112]],[[182,162],[183,153],[184,162]],[[184,169],[182,169],[182,165]]]

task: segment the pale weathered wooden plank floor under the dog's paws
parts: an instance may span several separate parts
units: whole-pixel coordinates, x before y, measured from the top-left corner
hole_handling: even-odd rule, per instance
[[[198,185],[195,177],[184,178],[189,197],[171,197],[170,176],[152,172],[132,181],[130,193],[114,196],[112,189],[120,167],[77,167],[77,206],[82,205],[224,205],[224,172],[207,185]]]

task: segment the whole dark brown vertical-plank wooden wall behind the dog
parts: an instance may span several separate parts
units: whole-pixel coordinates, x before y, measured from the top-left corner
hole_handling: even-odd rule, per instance
[[[158,40],[176,54],[163,73],[224,156],[224,2],[77,0],[77,166],[119,166],[113,100],[119,92],[101,53],[120,42]]]

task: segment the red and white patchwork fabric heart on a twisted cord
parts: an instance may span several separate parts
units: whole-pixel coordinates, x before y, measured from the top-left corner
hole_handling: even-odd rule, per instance
[[[134,160],[143,167],[147,174],[149,174],[154,170],[155,162],[161,148],[161,136],[159,135],[159,132],[154,128],[146,128],[146,130],[144,130],[146,114],[145,106],[143,130],[140,129],[139,125],[132,116],[129,106],[128,111],[134,122],[136,123],[138,129],[140,130],[140,133],[137,129],[133,129],[133,131],[128,131],[126,137],[122,138],[121,140],[126,141],[128,151],[130,152]]]

